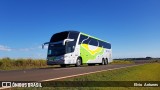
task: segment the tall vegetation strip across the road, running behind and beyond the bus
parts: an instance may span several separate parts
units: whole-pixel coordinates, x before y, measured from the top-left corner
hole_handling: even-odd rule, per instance
[[[151,62],[160,62],[160,60],[152,60]],[[134,60],[113,60],[109,64],[134,64]],[[47,68],[47,67],[59,67],[59,65],[48,66],[44,59],[11,59],[9,57],[0,59],[0,70],[23,70],[31,68]],[[70,65],[74,66],[74,65]],[[83,67],[88,66],[84,64]]]

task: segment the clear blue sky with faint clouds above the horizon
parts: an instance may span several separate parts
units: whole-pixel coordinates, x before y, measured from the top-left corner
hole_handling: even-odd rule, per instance
[[[0,0],[0,58],[46,58],[65,30],[110,42],[113,58],[160,57],[160,0]]]

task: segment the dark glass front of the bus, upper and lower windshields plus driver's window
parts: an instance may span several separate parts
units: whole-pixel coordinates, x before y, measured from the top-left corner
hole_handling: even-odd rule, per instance
[[[60,56],[74,52],[78,35],[79,33],[73,33],[73,32],[60,32],[54,34],[51,37],[50,44],[48,47],[48,57]],[[65,39],[74,39],[74,40],[65,41]]]

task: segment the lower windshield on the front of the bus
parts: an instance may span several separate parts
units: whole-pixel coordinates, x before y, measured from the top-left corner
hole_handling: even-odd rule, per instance
[[[49,45],[48,47],[48,57],[50,56],[60,56],[66,53],[65,45],[56,44],[56,45]]]

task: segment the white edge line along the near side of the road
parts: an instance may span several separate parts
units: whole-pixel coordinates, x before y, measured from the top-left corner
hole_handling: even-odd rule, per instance
[[[139,65],[143,65],[143,64],[139,64]],[[125,67],[120,67],[120,68],[113,68],[113,69],[107,69],[107,70],[100,70],[100,71],[88,72],[88,73],[82,73],[82,74],[75,74],[75,75],[70,75],[70,76],[64,76],[64,77],[59,77],[59,78],[53,78],[53,79],[42,80],[41,82],[54,81],[54,80],[59,80],[59,79],[71,78],[71,77],[76,77],[76,76],[82,76],[82,75],[87,75],[87,74],[92,74],[92,73],[98,73],[98,72],[109,71],[109,70],[116,70],[116,69],[121,69],[121,68],[139,66],[139,65],[125,66]]]

